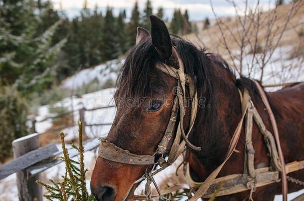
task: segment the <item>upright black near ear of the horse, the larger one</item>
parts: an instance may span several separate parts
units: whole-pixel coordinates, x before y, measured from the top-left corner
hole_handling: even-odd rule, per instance
[[[154,15],[150,15],[152,44],[159,56],[168,60],[172,55],[172,43],[168,29],[164,22]]]

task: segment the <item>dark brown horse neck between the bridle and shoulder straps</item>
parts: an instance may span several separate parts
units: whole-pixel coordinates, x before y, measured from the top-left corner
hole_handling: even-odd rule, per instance
[[[195,124],[189,139],[201,147],[201,151],[192,152],[189,162],[198,169],[203,168],[209,175],[226,156],[229,142],[241,119],[241,103],[235,77],[227,69],[214,65],[212,78],[213,101],[211,102],[211,121],[200,118]],[[203,114],[210,108],[199,108]]]

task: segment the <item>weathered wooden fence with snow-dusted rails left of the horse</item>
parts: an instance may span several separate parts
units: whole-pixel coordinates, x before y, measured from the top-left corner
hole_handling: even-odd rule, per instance
[[[112,108],[115,106],[97,107],[92,109],[81,108],[79,112],[79,120],[83,122],[83,129],[90,126],[107,126],[112,123],[103,124],[86,124],[85,112],[99,109]],[[35,124],[47,121],[49,119],[61,118],[63,116],[72,114],[75,111],[70,111],[53,117],[46,117],[40,121],[32,120],[32,133],[24,137],[12,141],[13,157],[10,162],[0,166],[0,180],[7,176],[16,173],[16,183],[18,188],[19,201],[33,201],[37,199],[42,201],[42,186],[35,183],[40,179],[40,173],[62,162],[58,159],[63,156],[62,151],[59,151],[55,144],[48,144],[40,147],[39,135],[49,132],[59,132],[62,129],[75,126],[76,124],[66,125],[60,128],[48,130],[44,133],[36,133]],[[85,132],[85,130],[83,131]],[[85,134],[85,133],[84,133]],[[99,146],[98,139],[89,139],[84,142],[84,151],[95,149]],[[74,148],[68,149],[69,156],[75,157],[78,155]]]

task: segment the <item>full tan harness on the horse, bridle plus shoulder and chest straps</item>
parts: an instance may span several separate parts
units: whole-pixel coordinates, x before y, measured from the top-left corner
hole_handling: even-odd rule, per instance
[[[107,141],[105,137],[100,137],[101,143],[99,147],[98,154],[100,157],[125,164],[133,164],[133,165],[153,165],[153,168],[150,172],[148,172],[148,168],[146,170],[146,174],[144,174],[140,179],[138,179],[134,184],[139,183],[145,179],[147,179],[146,189],[145,189],[145,198],[146,200],[151,200],[151,187],[150,184],[153,182],[158,196],[159,201],[167,201],[166,198],[162,197],[163,194],[167,194],[170,192],[174,192],[182,187],[180,185],[173,186],[171,188],[166,189],[164,192],[160,192],[157,187],[156,182],[153,179],[153,175],[162,171],[166,167],[170,166],[177,157],[185,150],[185,146],[187,145],[190,149],[200,150],[200,147],[194,146],[187,138],[190,134],[194,121],[196,118],[198,100],[197,100],[197,90],[196,90],[196,79],[191,79],[191,77],[184,73],[183,62],[181,61],[177,51],[175,48],[172,49],[173,54],[177,56],[179,68],[175,69],[173,67],[167,66],[166,64],[156,65],[156,68],[172,77],[177,79],[177,87],[176,87],[176,96],[174,98],[173,107],[170,115],[170,120],[167,125],[164,136],[162,137],[160,143],[158,144],[158,148],[152,155],[138,155],[134,153],[130,153],[128,150],[124,150],[115,144]],[[188,86],[188,93],[191,97],[191,112],[190,112],[190,122],[189,122],[189,130],[185,134],[183,128],[183,119],[185,115],[185,98],[186,98],[186,85]],[[189,164],[186,164],[186,179],[187,183],[191,187],[198,187],[194,196],[189,199],[189,201],[196,201],[197,199],[210,198],[212,195],[217,192],[217,196],[230,195],[234,193],[239,193],[242,191],[251,190],[250,199],[252,199],[252,193],[255,191],[257,187],[265,186],[274,182],[279,182],[279,172],[282,175],[282,194],[284,198],[287,198],[287,180],[286,174],[297,171],[304,168],[304,161],[295,161],[293,163],[287,164],[285,166],[284,158],[280,146],[279,135],[277,125],[275,123],[274,116],[272,114],[271,108],[267,101],[265,92],[258,82],[256,82],[258,86],[260,95],[262,100],[267,108],[268,113],[271,117],[272,126],[274,129],[275,138],[273,135],[266,129],[261,116],[256,110],[247,89],[244,89],[243,92],[240,92],[241,98],[241,108],[242,108],[242,116],[241,120],[237,125],[237,128],[231,138],[229,148],[226,154],[226,157],[222,164],[220,164],[203,183],[194,182],[191,179],[189,172]],[[175,134],[175,138],[173,140],[172,146],[169,150],[168,157],[165,157],[166,150],[168,148],[168,143],[171,140],[177,115],[179,111],[179,122],[177,124],[177,130]],[[246,145],[245,145],[245,162],[244,162],[244,174],[234,174],[228,175],[225,177],[217,178],[216,176],[224,166],[224,164],[228,161],[232,153],[235,151],[235,147],[239,141],[239,137],[242,131],[242,126],[245,120],[245,133],[246,133]],[[271,167],[270,168],[260,168],[254,169],[254,148],[252,143],[252,126],[253,120],[256,122],[260,132],[264,135],[265,142],[268,147],[268,151],[271,157]],[[160,156],[160,157],[159,157]],[[156,169],[157,165],[159,168]],[[285,168],[282,168],[285,167]],[[220,188],[221,187],[221,188]],[[145,199],[144,198],[144,199]],[[136,197],[136,199],[140,199],[140,197]],[[143,199],[143,198],[141,198]]]

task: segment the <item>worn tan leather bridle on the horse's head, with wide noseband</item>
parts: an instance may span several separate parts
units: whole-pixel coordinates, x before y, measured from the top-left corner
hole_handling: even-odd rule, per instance
[[[142,178],[137,180],[135,183],[141,182],[147,178],[151,179],[153,181],[153,178],[151,178],[156,173],[162,171],[166,167],[170,166],[182,153],[182,151],[185,148],[185,145],[187,145],[189,148],[193,150],[200,150],[200,147],[194,146],[189,140],[188,135],[190,134],[194,121],[196,118],[197,113],[197,90],[196,90],[196,78],[192,79],[188,74],[184,73],[184,66],[183,62],[181,61],[177,51],[175,48],[172,48],[172,53],[175,54],[179,68],[176,69],[174,67],[170,67],[166,64],[157,64],[156,68],[172,77],[174,77],[177,80],[177,86],[176,86],[176,96],[173,101],[173,106],[171,110],[170,120],[167,125],[167,128],[165,130],[165,133],[158,144],[158,148],[152,155],[138,155],[130,153],[130,151],[122,149],[115,144],[109,142],[105,137],[100,137],[101,140],[98,155],[104,159],[119,162],[119,163],[125,163],[125,164],[133,164],[133,165],[153,165],[152,170],[155,169],[157,165],[160,166],[159,169],[153,171],[152,173],[146,173]],[[187,131],[187,134],[185,134],[184,128],[183,128],[183,119],[185,116],[185,100],[186,100],[186,85],[188,86],[188,93],[191,97],[191,112],[190,112],[190,121],[189,121],[189,129]],[[168,157],[165,157],[167,146],[174,135],[173,132],[175,130],[176,120],[178,116],[179,111],[179,122],[175,134],[175,138],[173,140],[172,146],[170,148]],[[182,138],[182,140],[181,140]],[[161,157],[159,157],[159,155]],[[161,196],[161,195],[159,195]]]

